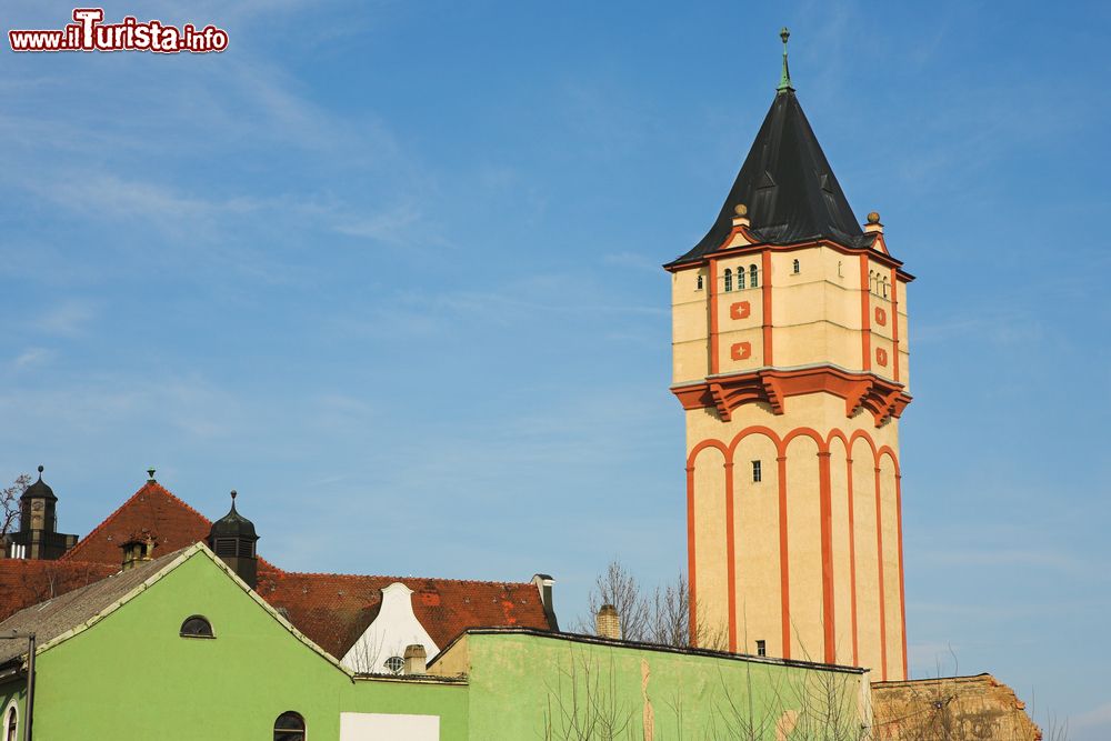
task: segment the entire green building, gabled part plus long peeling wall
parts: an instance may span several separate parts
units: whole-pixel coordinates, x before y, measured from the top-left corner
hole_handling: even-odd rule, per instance
[[[529,629],[468,631],[428,674],[354,675],[200,543],[23,610],[10,630],[40,640],[36,741],[807,741],[865,738],[869,722],[858,669]],[[7,723],[16,708],[20,739],[22,647],[0,641],[0,710]],[[279,718],[304,732],[276,731]]]

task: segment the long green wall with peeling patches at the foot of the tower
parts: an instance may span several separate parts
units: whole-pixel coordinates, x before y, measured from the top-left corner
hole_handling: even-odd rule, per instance
[[[472,633],[464,650],[471,739],[775,741],[779,725],[792,741],[849,741],[867,721],[854,672],[524,633]]]

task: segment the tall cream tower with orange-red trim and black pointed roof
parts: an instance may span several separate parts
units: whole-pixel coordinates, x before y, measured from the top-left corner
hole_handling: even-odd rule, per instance
[[[907,675],[907,284],[787,67],[705,237],[668,263],[687,418],[692,638]]]

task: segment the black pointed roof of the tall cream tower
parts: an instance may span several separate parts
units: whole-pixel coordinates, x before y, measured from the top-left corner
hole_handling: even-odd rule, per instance
[[[781,89],[710,231],[687,254],[669,264],[717,251],[732,230],[733,209],[749,209],[750,231],[762,242],[791,244],[828,239],[868,247],[825,153],[790,87]]]

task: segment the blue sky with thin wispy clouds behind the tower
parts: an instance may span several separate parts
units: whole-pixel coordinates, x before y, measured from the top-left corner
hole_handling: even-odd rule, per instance
[[[72,6],[6,4],[4,30]],[[0,472],[87,532],[143,470],[278,564],[683,563],[668,278],[800,100],[918,276],[915,675],[1111,735],[1111,10],[257,0],[106,7],[222,54],[0,54]],[[954,653],[959,665],[954,667]]]

